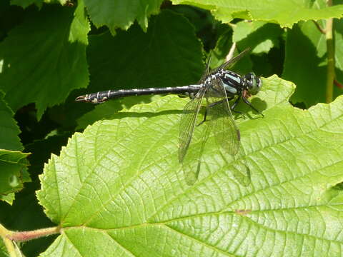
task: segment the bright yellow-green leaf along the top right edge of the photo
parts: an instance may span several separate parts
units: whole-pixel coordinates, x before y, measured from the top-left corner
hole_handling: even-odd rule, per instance
[[[298,21],[310,19],[340,18],[343,5],[330,7],[312,6],[313,1],[303,0],[172,0],[174,4],[192,4],[209,9],[219,21],[229,22],[234,18],[269,21],[281,26],[292,27]]]

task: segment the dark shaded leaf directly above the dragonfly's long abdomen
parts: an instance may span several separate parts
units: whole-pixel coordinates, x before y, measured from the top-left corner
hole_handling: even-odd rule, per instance
[[[132,26],[116,36],[89,36],[87,56],[91,91],[192,84],[204,69],[192,24],[172,11],[151,19],[146,33]]]

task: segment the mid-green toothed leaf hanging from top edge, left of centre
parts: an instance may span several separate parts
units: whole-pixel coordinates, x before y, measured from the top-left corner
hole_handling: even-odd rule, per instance
[[[142,29],[148,27],[148,18],[159,12],[162,0],[85,0],[91,21],[99,27],[106,25],[112,34],[116,28],[129,29],[135,20]]]

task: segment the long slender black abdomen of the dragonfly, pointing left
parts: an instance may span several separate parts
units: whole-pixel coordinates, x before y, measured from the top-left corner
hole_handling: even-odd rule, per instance
[[[149,94],[184,94],[192,96],[199,91],[201,85],[190,86],[175,86],[165,88],[149,88],[149,89],[121,89],[100,91],[97,93],[78,96],[75,101],[91,102],[93,104],[102,103],[109,99],[118,99],[126,96],[143,96]]]

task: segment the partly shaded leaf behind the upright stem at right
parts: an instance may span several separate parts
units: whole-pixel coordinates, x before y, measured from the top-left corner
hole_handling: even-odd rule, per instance
[[[324,27],[324,22],[320,25]],[[335,25],[337,79],[342,81],[343,22],[337,21]],[[307,106],[312,106],[325,101],[327,44],[324,34],[320,33],[312,21],[295,25],[289,30],[282,77],[297,84],[292,102],[304,102]],[[342,94],[342,90],[337,89],[334,95],[336,97],[339,94]]]

